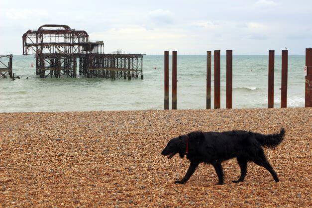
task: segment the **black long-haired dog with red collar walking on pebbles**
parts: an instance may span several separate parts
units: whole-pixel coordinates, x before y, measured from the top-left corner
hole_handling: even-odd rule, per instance
[[[280,133],[260,134],[250,131],[225,131],[225,132],[191,132],[171,139],[166,148],[161,152],[162,155],[172,158],[179,154],[181,158],[185,155],[190,160],[190,167],[180,181],[175,183],[184,184],[195,172],[200,163],[211,164],[218,176],[218,185],[223,184],[223,170],[221,162],[237,158],[241,175],[238,183],[244,180],[247,172],[247,162],[252,161],[267,169],[276,182],[279,182],[276,172],[266,159],[262,147],[275,148],[283,141],[285,129]]]

